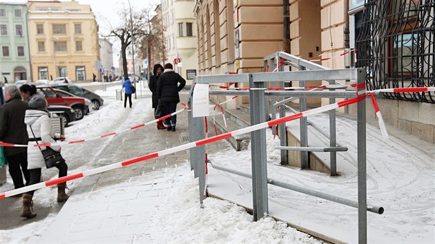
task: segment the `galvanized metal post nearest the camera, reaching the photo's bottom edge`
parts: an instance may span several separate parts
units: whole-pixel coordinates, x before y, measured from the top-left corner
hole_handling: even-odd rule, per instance
[[[365,70],[358,69],[357,83],[365,83]],[[358,91],[365,88],[358,88]],[[365,99],[357,104],[357,144],[358,144],[358,243],[367,243],[367,145]]]

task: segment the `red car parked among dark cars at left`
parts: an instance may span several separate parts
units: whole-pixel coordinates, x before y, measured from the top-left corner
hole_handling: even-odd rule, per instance
[[[89,107],[84,99],[72,96],[61,96],[55,89],[48,86],[37,87],[38,91],[46,96],[48,105],[62,105],[71,107],[75,112],[75,120],[83,119],[89,113]]]

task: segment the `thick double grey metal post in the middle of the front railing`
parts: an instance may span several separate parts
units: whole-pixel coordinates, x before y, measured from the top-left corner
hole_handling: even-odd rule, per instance
[[[264,82],[253,82],[252,74],[249,74],[249,88],[265,88]],[[249,105],[251,113],[251,125],[265,122],[264,114],[264,90],[249,91]],[[252,195],[253,195],[253,219],[258,221],[269,212],[267,196],[267,150],[266,129],[251,132],[251,155],[252,155]]]

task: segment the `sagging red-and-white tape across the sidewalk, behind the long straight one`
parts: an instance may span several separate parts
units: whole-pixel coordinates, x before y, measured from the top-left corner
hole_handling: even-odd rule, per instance
[[[188,109],[188,107],[187,107],[187,105],[185,103],[181,103],[181,105],[183,105],[184,108],[182,108],[181,110],[177,110],[177,111],[173,112],[172,114],[167,114],[167,115],[162,116],[162,117],[160,117],[158,119],[154,119],[152,121],[149,121],[149,122],[146,122],[146,123],[142,123],[140,125],[135,125],[135,126],[133,126],[131,128],[128,128],[126,130],[121,130],[119,132],[112,132],[112,133],[104,134],[104,135],[101,135],[101,136],[95,136],[95,137],[90,138],[90,139],[81,139],[81,140],[75,140],[75,141],[66,141],[64,143],[43,143],[43,144],[35,144],[35,145],[32,145],[32,146],[34,146],[34,147],[51,147],[52,145],[61,145],[61,146],[64,146],[64,145],[70,145],[70,144],[76,144],[76,143],[84,143],[84,142],[88,142],[88,141],[95,141],[97,139],[103,139],[103,138],[106,138],[106,137],[109,137],[109,136],[115,136],[115,134],[122,134],[124,132],[135,130],[137,128],[142,128],[142,127],[144,127],[146,125],[151,125],[153,123],[156,123],[157,121],[163,121],[164,119],[168,119],[171,116],[174,116],[175,114],[180,114],[180,112],[183,112],[184,110]],[[28,147],[28,145],[3,143],[3,142],[0,142],[0,146],[3,146],[3,147],[14,147],[14,148],[26,148],[26,147]]]

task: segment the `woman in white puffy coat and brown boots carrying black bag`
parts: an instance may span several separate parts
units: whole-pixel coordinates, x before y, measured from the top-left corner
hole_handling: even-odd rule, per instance
[[[45,159],[41,150],[46,150],[46,147],[36,147],[37,143],[56,143],[56,139],[64,141],[65,137],[60,134],[55,134],[50,120],[50,113],[47,110],[47,101],[43,96],[33,96],[29,101],[29,109],[26,111],[24,122],[27,125],[28,137],[28,170],[30,172],[30,183],[34,185],[41,180],[41,168],[46,167]],[[50,146],[52,150],[61,151],[60,145]],[[59,178],[66,176],[68,165],[65,162],[55,165],[59,170]],[[57,202],[62,203],[68,199],[65,193],[66,183],[57,184]],[[32,207],[32,198],[35,191],[26,192],[23,194],[23,205],[21,208],[21,217],[33,218],[36,216],[30,209]]]

